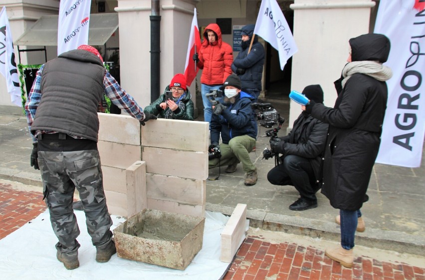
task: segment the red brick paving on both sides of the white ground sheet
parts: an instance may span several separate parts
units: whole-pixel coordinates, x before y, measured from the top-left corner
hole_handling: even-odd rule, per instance
[[[44,212],[42,193],[21,191],[0,183],[0,239]],[[404,263],[358,257],[346,269],[324,251],[297,244],[266,242],[248,236],[239,248],[224,280],[425,280],[425,269]]]

